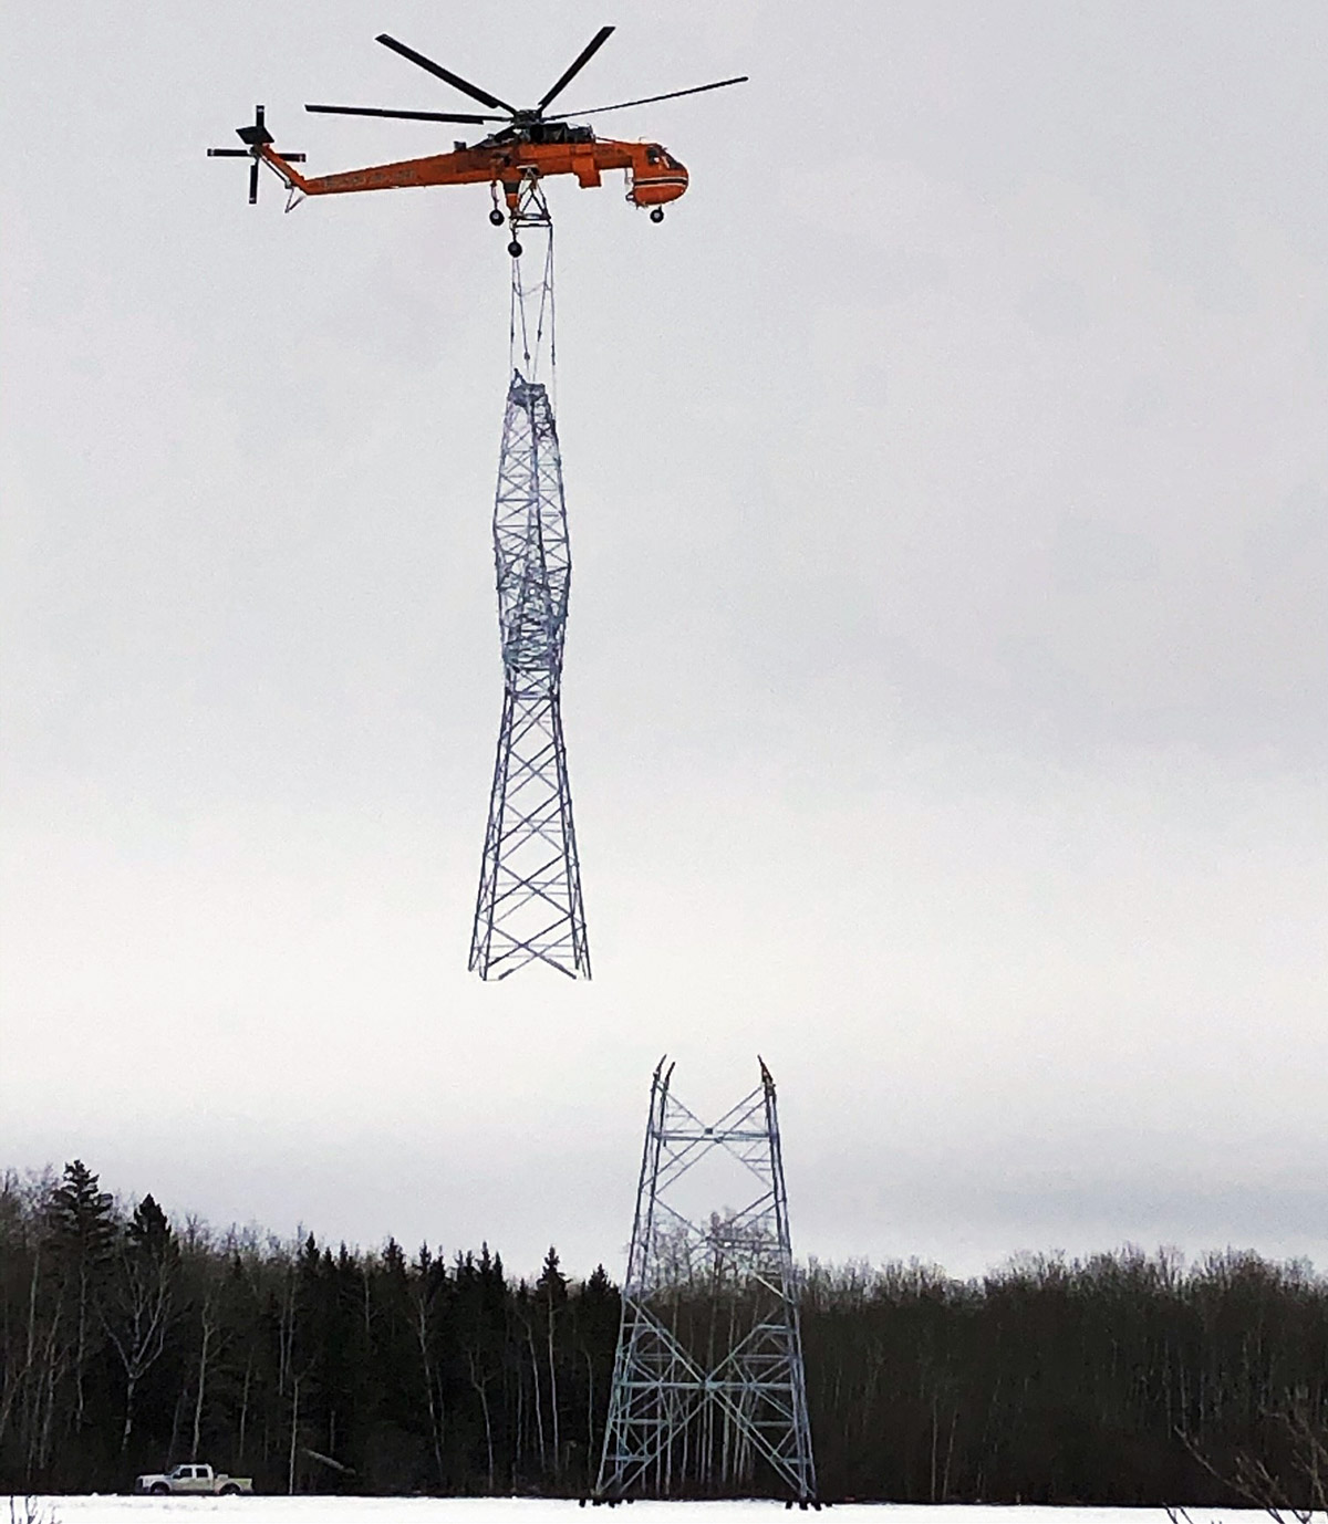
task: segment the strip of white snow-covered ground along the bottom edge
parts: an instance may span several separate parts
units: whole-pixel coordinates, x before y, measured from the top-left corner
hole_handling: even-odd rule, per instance
[[[37,1500],[34,1500],[37,1501]],[[9,1524],[8,1500],[0,1497],[0,1524]],[[197,1519],[226,1515],[241,1524],[573,1524],[589,1519],[576,1503],[546,1498],[43,1498],[41,1524],[145,1524],[148,1519]],[[636,1503],[631,1524],[775,1524],[781,1503]],[[15,1519],[24,1524],[23,1500]],[[595,1518],[624,1524],[624,1513],[599,1510]],[[1162,1509],[1046,1509],[1046,1507],[925,1507],[922,1504],[839,1504],[837,1524],[1168,1524]],[[1194,1509],[1194,1524],[1244,1521],[1264,1515],[1253,1509]]]

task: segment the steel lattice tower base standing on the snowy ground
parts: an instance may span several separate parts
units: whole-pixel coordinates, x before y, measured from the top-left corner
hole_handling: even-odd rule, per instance
[[[782,1494],[819,1507],[775,1081],[706,1126],[654,1073],[596,1503]],[[715,1149],[755,1183],[704,1224],[669,1198]]]

